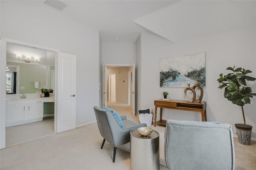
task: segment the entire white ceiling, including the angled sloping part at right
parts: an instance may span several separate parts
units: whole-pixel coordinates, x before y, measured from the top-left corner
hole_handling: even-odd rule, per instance
[[[56,10],[46,4],[42,5]],[[255,1],[62,0],[56,10],[100,31],[102,42],[136,42],[150,31],[174,43],[255,25]]]

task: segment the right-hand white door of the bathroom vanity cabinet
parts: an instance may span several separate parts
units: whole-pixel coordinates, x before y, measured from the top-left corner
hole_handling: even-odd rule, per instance
[[[37,102],[28,106],[28,120],[43,117],[43,102]]]

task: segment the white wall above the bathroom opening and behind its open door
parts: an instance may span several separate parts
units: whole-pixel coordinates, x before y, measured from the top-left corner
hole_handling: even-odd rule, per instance
[[[64,16],[44,1],[1,1],[1,37],[76,55],[76,125],[96,121],[93,106],[99,106],[98,30]]]

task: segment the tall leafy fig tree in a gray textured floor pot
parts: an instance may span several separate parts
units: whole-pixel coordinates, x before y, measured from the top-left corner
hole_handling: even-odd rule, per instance
[[[245,70],[241,67],[236,69],[235,66],[233,68],[228,67],[226,70],[230,70],[232,73],[225,76],[220,74],[220,78],[217,80],[220,83],[218,88],[225,88],[224,98],[227,98],[230,102],[232,102],[232,104],[241,106],[244,123],[235,124],[238,142],[242,145],[250,145],[252,126],[246,125],[243,106],[245,104],[250,104],[250,98],[256,96],[255,93],[252,93],[252,88],[247,86],[246,80],[255,81],[256,78],[247,76],[246,74],[251,73],[252,71]]]

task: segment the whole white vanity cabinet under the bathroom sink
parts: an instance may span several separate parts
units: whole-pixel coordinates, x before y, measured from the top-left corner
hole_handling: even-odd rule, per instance
[[[21,100],[6,102],[6,127],[42,121],[43,102]]]

